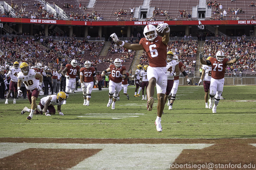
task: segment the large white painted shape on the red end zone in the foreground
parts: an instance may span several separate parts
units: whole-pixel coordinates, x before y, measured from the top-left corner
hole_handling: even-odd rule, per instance
[[[0,143],[0,159],[28,148],[103,149],[71,170],[156,170],[169,169],[183,149],[203,149],[214,144],[79,144]]]

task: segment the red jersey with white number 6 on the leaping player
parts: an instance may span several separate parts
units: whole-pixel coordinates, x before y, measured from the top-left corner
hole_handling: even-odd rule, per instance
[[[166,67],[167,45],[163,43],[162,37],[157,36],[153,41],[142,38],[140,45],[147,53],[150,67]]]

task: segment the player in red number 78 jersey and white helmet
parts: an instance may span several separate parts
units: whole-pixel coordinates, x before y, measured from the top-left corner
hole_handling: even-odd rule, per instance
[[[66,74],[67,72],[67,74]],[[62,70],[61,74],[65,76],[66,79],[66,98],[70,93],[74,93],[76,88],[76,75],[80,75],[80,67],[78,66],[77,60],[73,59],[71,64],[67,64],[65,69]],[[63,102],[66,104],[66,100]]]

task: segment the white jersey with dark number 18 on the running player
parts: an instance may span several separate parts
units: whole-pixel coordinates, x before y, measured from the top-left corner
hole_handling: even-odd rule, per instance
[[[17,78],[23,81],[27,90],[33,90],[38,87],[35,75],[36,71],[34,69],[29,69],[27,75],[24,75],[22,72],[19,72]]]

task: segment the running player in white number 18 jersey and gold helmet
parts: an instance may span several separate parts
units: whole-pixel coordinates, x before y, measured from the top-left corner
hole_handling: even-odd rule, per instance
[[[20,90],[20,86],[21,86],[21,81],[23,81],[23,83],[26,86],[27,89],[27,96],[28,96],[28,100],[31,104],[31,109],[29,116],[27,117],[28,120],[32,119],[35,108],[37,108],[40,111],[41,108],[38,107],[38,105],[36,104],[36,99],[38,97],[39,91],[41,90],[41,86],[42,86],[42,81],[43,81],[43,76],[41,74],[38,74],[35,72],[34,69],[29,69],[29,66],[26,62],[22,62],[19,66],[21,72],[18,73],[17,78],[18,78],[18,94],[21,95],[22,91]],[[39,78],[39,85],[37,85],[36,82],[36,77]],[[22,114],[22,112],[21,112]],[[24,114],[24,113],[23,113]]]

